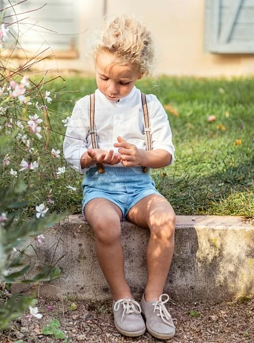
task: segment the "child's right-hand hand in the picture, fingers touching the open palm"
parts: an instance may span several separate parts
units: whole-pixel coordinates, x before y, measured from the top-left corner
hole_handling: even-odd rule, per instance
[[[122,158],[122,164],[126,167],[135,167],[141,164],[141,150],[134,144],[130,144],[122,137],[117,137],[118,143],[114,144],[114,147],[119,147],[118,152]]]

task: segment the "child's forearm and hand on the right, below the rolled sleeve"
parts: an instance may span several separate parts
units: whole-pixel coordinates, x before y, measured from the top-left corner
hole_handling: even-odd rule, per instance
[[[161,168],[171,163],[172,156],[166,150],[138,149],[136,145],[124,141],[122,137],[117,137],[117,141],[118,143],[115,143],[114,146],[119,147],[118,152],[125,167],[143,165],[150,168]]]

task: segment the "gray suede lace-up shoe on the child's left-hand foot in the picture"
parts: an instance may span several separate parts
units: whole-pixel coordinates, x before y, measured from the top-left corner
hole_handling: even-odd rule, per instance
[[[119,333],[128,337],[143,335],[146,324],[141,316],[139,303],[133,299],[113,300],[115,327]]]

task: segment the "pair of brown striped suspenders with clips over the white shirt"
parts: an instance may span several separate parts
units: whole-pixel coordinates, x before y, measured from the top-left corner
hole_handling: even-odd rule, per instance
[[[148,104],[146,102],[146,94],[141,93],[141,99],[142,99],[142,107],[143,107],[143,123],[144,123],[144,132],[146,139],[146,150],[152,150],[152,139],[151,139],[151,128],[150,128],[150,119],[148,115]],[[90,95],[90,131],[89,134],[91,134],[91,141],[92,141],[92,147],[93,149],[98,148],[97,143],[97,130],[94,123],[94,117],[95,117],[95,95],[94,93]],[[100,174],[103,174],[105,172],[104,165],[102,163],[96,163],[98,167],[98,171]],[[148,167],[142,167],[142,170],[144,173],[148,171]]]

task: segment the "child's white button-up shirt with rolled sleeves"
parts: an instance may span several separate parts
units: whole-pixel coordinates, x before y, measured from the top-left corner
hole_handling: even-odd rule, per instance
[[[168,122],[168,115],[155,95],[146,95],[148,103],[148,114],[150,117],[150,128],[152,137],[152,150],[163,149],[172,155],[174,161],[174,145],[172,143],[172,132]],[[71,119],[67,124],[63,151],[68,163],[80,172],[82,169],[80,158],[89,147],[92,147],[89,134],[89,95],[82,97],[73,108]],[[125,141],[135,144],[138,149],[146,150],[146,139],[144,137],[143,109],[141,92],[134,87],[129,95],[118,102],[110,101],[97,89],[95,91],[95,127],[97,130],[98,147],[103,150],[114,150],[118,148],[117,137],[121,136]],[[114,165],[122,167],[122,163]]]

